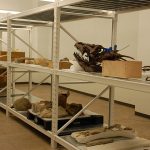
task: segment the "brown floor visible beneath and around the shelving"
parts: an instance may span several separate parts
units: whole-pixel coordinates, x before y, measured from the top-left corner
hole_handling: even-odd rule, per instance
[[[17,85],[21,90],[27,90],[26,85]],[[42,85],[32,92],[45,100],[50,99],[50,86]],[[68,102],[82,103],[85,105],[93,97],[72,92]],[[104,115],[105,123],[108,118],[108,103],[97,100],[89,108]],[[115,123],[134,128],[138,136],[150,139],[150,119],[134,115],[134,108],[115,104]],[[26,125],[19,119],[11,116],[7,118],[0,109],[0,150],[51,150],[50,139]]]

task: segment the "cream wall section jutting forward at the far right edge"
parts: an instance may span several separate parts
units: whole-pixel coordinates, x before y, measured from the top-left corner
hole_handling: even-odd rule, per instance
[[[138,59],[144,65],[150,65],[150,10],[140,11],[139,14],[139,32],[138,32]],[[150,115],[150,94],[137,93],[138,101],[136,110]],[[148,113],[147,113],[148,112]]]

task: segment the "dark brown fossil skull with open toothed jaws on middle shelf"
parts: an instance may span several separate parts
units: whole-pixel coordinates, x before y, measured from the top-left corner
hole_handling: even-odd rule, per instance
[[[104,48],[102,45],[88,44],[83,42],[77,42],[75,44],[78,52],[74,53],[79,65],[86,72],[102,72],[102,61],[103,60],[123,60],[126,58],[133,59],[130,56],[122,55],[117,47],[112,50],[110,48]]]

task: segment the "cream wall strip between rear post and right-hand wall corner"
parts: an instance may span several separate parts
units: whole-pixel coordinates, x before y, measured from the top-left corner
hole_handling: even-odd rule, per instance
[[[139,12],[125,13],[118,16],[118,49],[127,45],[122,54],[137,59]]]

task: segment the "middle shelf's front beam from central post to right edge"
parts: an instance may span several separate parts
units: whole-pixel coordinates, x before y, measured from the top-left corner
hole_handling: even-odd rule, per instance
[[[103,77],[100,73],[72,72],[69,70],[57,70],[57,75],[83,81],[95,82],[103,85],[113,85],[115,87],[130,89],[134,91],[150,92],[150,84],[142,79],[119,79]]]

